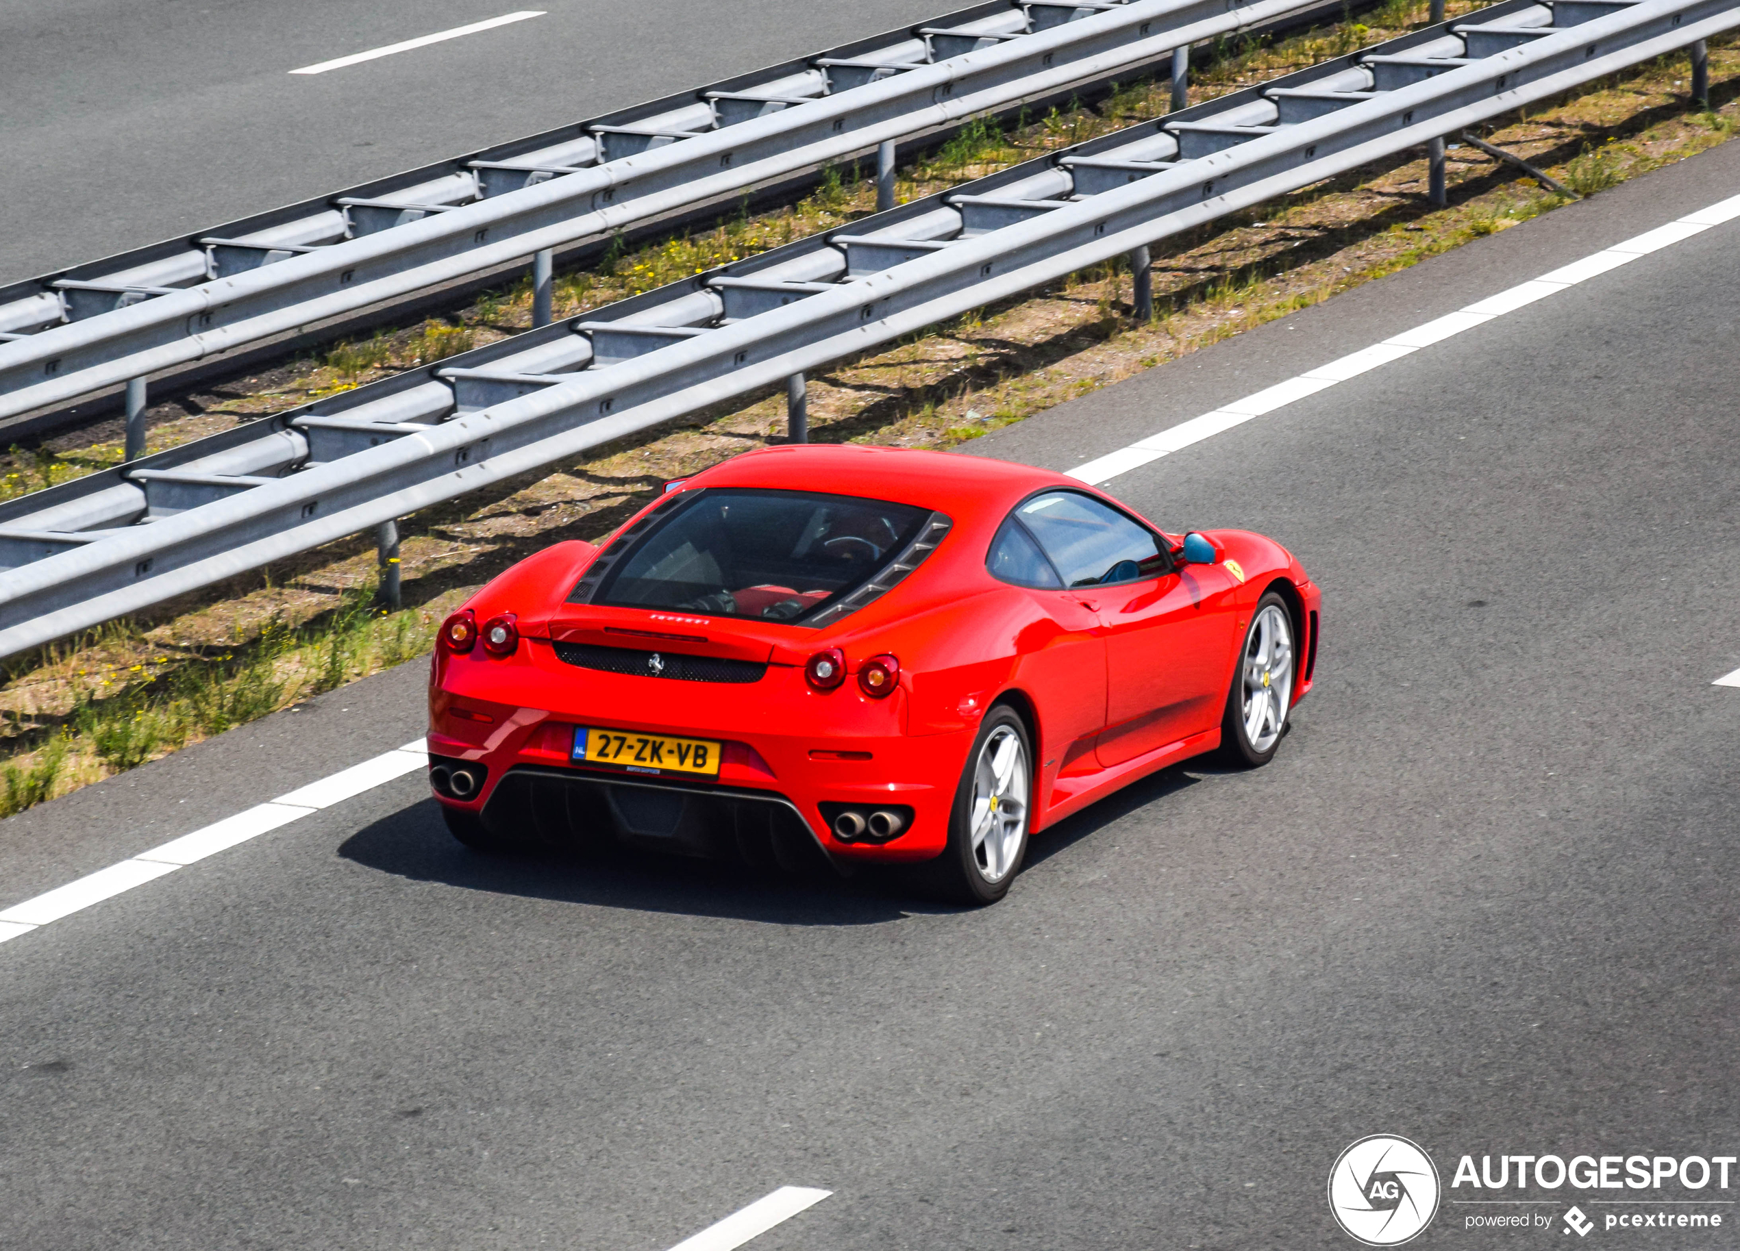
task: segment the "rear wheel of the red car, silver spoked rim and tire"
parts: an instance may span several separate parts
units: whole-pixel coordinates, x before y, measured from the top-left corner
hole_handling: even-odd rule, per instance
[[[1021,717],[1007,705],[992,708],[955,790],[948,846],[934,861],[936,886],[947,898],[985,906],[1009,893],[1027,858],[1032,760]]]

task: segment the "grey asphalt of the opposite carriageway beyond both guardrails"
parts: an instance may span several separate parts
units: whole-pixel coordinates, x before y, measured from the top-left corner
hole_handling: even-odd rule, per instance
[[[945,0],[0,0],[0,282],[934,17]],[[959,7],[959,5],[957,5]]]

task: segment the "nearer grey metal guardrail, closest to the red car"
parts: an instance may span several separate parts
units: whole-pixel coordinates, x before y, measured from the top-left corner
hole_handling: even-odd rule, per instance
[[[0,505],[0,656],[1023,294],[1740,24],[1505,0],[256,426]],[[1143,299],[1138,285],[1138,306]],[[800,425],[793,405],[793,426]],[[287,477],[280,477],[287,475]],[[148,522],[148,524],[146,524]]]

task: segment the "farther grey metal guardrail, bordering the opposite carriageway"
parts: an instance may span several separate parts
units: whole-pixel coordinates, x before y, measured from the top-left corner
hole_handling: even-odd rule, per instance
[[[990,0],[609,118],[0,289],[0,418],[1039,99],[1324,0]],[[1174,96],[1183,66],[1174,56]],[[1181,104],[1181,99],[1178,101]],[[139,440],[130,440],[129,458]]]

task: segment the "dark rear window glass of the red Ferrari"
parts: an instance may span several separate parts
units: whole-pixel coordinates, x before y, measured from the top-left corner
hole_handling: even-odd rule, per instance
[[[696,492],[635,541],[593,604],[795,621],[880,572],[929,515],[802,491]]]

